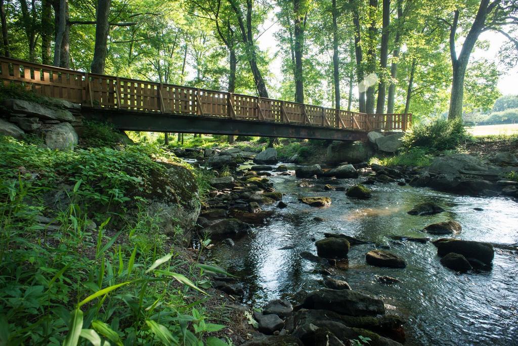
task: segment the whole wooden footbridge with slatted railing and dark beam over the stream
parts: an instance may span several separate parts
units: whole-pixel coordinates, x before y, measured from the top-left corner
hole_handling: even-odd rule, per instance
[[[131,131],[362,140],[406,131],[412,114],[365,114],[271,98],[119,78],[0,57],[4,84],[80,103],[87,118]]]

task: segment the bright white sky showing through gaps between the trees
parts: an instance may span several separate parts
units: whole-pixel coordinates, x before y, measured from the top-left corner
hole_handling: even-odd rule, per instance
[[[278,40],[274,34],[280,30],[280,25],[276,23],[275,13],[270,13],[268,20],[262,26],[262,30],[266,30],[264,34],[258,39],[257,44],[263,51],[267,51],[271,56],[279,50]],[[262,31],[261,31],[262,32]],[[477,48],[471,55],[472,59],[485,58],[489,61],[496,61],[498,63],[498,50],[500,46],[505,42],[505,37],[502,34],[487,31],[480,35],[479,40],[487,40],[488,48],[482,50]],[[458,47],[460,49],[460,47]],[[469,68],[469,67],[468,67]],[[501,68],[503,70],[503,68]],[[277,57],[270,65],[272,72],[272,78],[270,79],[271,84],[278,85],[282,78],[281,70],[281,59]],[[518,67],[511,70],[507,70],[505,74],[500,76],[498,82],[498,89],[503,95],[516,94],[518,90]]]

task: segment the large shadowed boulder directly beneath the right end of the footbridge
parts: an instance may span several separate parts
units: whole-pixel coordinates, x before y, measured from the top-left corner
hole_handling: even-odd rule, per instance
[[[366,162],[374,155],[374,150],[364,142],[335,141],[327,147],[326,162],[339,164],[342,162]]]

